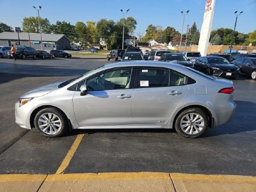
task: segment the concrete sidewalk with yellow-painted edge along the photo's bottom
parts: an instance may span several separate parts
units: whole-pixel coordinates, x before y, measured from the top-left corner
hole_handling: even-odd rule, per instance
[[[255,192],[256,177],[180,173],[0,175],[0,191]]]

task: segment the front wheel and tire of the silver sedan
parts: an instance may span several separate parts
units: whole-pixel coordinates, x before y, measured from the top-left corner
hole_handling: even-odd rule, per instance
[[[68,130],[67,118],[56,108],[45,108],[37,112],[34,125],[46,137],[60,137]]]

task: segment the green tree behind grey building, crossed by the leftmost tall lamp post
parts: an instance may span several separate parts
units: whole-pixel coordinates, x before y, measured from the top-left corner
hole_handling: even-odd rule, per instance
[[[42,33],[51,33],[50,21],[47,18],[40,17],[40,25]],[[39,17],[24,17],[22,22],[23,32],[40,33]]]

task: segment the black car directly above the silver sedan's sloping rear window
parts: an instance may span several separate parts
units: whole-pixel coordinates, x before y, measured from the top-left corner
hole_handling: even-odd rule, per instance
[[[174,62],[186,67],[194,68],[194,63],[187,59],[184,55],[178,53],[164,53],[159,61]]]

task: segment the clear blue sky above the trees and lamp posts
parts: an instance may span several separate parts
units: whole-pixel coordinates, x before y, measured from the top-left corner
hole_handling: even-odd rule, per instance
[[[256,0],[215,0],[215,11],[212,30],[218,28],[234,29],[236,16],[234,12],[244,11],[237,19],[236,31],[250,33],[256,30]],[[99,21],[100,19],[118,21],[123,17],[120,9],[130,9],[125,17],[137,21],[135,35],[145,35],[149,24],[168,26],[182,31],[183,16],[181,11],[189,10],[185,16],[184,30],[196,22],[201,30],[206,0],[0,0],[0,22],[12,28],[22,27],[24,17],[36,17],[33,8],[42,6],[40,17],[47,18],[51,24],[56,21],[75,22]]]

